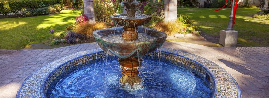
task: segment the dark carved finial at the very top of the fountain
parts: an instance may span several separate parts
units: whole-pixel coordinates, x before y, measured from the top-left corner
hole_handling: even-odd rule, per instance
[[[140,1],[136,0],[128,0],[128,1],[122,1],[121,2],[122,6],[126,6],[124,10],[127,11],[127,17],[135,17],[135,13],[137,11],[137,7],[141,5]]]

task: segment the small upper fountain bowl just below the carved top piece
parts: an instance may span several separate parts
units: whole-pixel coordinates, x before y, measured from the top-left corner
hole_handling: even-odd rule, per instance
[[[120,26],[134,27],[141,26],[150,22],[151,18],[148,15],[136,14],[134,18],[128,18],[127,14],[109,15],[112,21]]]

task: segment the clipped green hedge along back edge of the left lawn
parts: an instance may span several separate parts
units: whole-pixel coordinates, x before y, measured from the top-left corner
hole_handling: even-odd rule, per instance
[[[58,0],[42,0],[44,5],[58,4]],[[30,10],[41,8],[39,6],[41,0],[16,0],[16,1],[0,1],[0,14],[8,15],[8,13],[16,14],[23,9]]]

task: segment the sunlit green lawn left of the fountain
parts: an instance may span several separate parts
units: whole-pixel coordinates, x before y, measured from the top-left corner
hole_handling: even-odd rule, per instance
[[[0,19],[0,49],[23,49],[28,44],[48,43],[49,30],[59,35],[73,24],[79,10],[62,10],[58,14],[24,18]]]

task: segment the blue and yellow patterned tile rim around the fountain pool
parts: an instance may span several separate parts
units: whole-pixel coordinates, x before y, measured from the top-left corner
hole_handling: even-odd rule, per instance
[[[210,83],[210,88],[212,88],[212,84],[214,85],[212,98],[227,98],[227,97],[241,98],[241,91],[236,81],[232,78],[232,76],[228,72],[226,72],[223,68],[221,68],[219,65],[215,64],[214,62],[209,61],[205,58],[199,57],[197,55],[186,53],[179,50],[173,50],[169,48],[161,48],[160,50],[162,52],[161,57],[173,60],[175,62],[181,62],[184,65],[189,66],[189,69],[191,71],[193,70],[193,71],[196,71],[196,73],[201,73],[199,77],[205,77],[204,79],[209,80],[208,82]],[[43,66],[36,72],[32,73],[23,82],[23,84],[20,86],[20,89],[17,92],[16,97],[17,98],[30,98],[30,97],[45,98],[46,96],[44,92],[47,91],[49,87],[49,82],[52,82],[55,79],[55,77],[53,79],[52,75],[55,74],[55,71],[57,69],[59,70],[63,65],[68,65],[68,63],[72,61],[74,63],[69,64],[69,65],[76,66],[76,65],[79,65],[80,63],[87,62],[87,60],[95,60],[97,56],[99,56],[99,58],[105,57],[104,54],[97,55],[97,54],[100,54],[101,52],[102,50],[100,48],[88,50],[88,51],[82,51],[82,52],[77,52],[75,54],[69,55],[67,57],[57,59],[53,62],[50,62],[46,66]],[[156,52],[153,52],[147,55],[156,56],[156,54],[157,54]],[[91,56],[87,56],[87,55],[91,55]],[[181,57],[182,59],[176,58],[176,57]],[[79,58],[84,58],[86,61]],[[184,59],[187,59],[187,60],[184,60]],[[189,62],[184,62],[184,61],[189,61]],[[65,68],[62,70],[66,70],[66,69],[68,70],[69,68]],[[206,72],[200,71],[199,69],[205,69]],[[209,73],[210,76],[207,75],[206,73]],[[210,79],[210,77],[212,79]],[[44,90],[45,88],[46,90]]]

